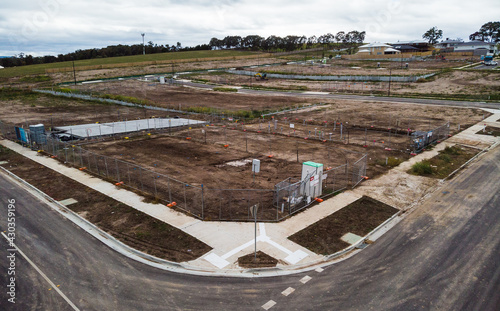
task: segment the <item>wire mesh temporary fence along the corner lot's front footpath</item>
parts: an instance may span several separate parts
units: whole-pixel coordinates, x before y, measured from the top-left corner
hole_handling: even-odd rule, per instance
[[[4,133],[6,138],[16,140],[15,133]],[[274,189],[215,189],[186,183],[152,169],[100,155],[50,136],[46,136],[38,144],[32,141],[30,146],[43,150],[67,165],[112,182],[117,187],[137,191],[153,202],[182,210],[201,220],[250,221],[256,218],[258,221],[280,221],[315,202],[315,198],[307,196],[301,190],[308,187],[309,178],[289,178],[288,185],[281,183]],[[306,149],[307,146],[304,145],[303,148]],[[330,151],[324,152],[329,154]],[[357,157],[359,158],[359,154]],[[345,163],[326,168],[322,184],[323,194],[320,197],[355,186],[363,179],[364,171],[360,167],[366,168],[366,155],[361,156],[357,162],[353,162],[349,156],[342,161]],[[292,195],[294,199],[289,199],[287,204],[284,204],[284,198],[291,198]],[[253,213],[254,207],[257,207],[256,214]]]

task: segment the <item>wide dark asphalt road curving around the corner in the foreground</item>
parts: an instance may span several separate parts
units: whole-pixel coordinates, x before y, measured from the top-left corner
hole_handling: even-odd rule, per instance
[[[0,175],[0,229],[16,200],[16,244],[80,310],[500,310],[500,147],[447,182],[352,258],[274,278],[199,277],[125,258]],[[71,310],[19,254],[7,301],[0,242],[0,310]],[[305,276],[310,279],[303,284]],[[281,294],[293,288],[289,296]],[[51,290],[49,290],[51,289]]]

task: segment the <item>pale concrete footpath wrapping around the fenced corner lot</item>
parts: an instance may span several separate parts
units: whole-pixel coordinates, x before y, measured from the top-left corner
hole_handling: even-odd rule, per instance
[[[315,205],[283,222],[259,223],[257,226],[257,250],[261,250],[278,259],[279,264],[277,268],[282,271],[298,272],[303,269],[310,269],[315,265],[325,265],[327,257],[309,251],[288,240],[288,237],[331,215],[361,198],[363,195],[373,197],[400,210],[407,210],[415,206],[419,200],[439,187],[440,181],[408,175],[406,171],[415,162],[432,158],[438,151],[449,145],[460,143],[483,149],[496,142],[500,142],[500,137],[495,138],[493,136],[476,134],[476,132],[484,128],[484,124],[500,128],[500,110],[489,111],[495,114],[446,140],[446,142],[438,144],[433,150],[411,158],[383,176],[364,181],[358,188],[347,190],[335,196],[335,198]],[[118,188],[109,182],[93,177],[76,168],[67,167],[57,160],[41,156],[36,151],[24,148],[17,143],[3,140],[0,141],[0,144],[119,202],[125,203],[179,228],[213,248],[211,252],[194,261],[182,263],[180,266],[185,268],[186,272],[192,270],[215,273],[217,275],[241,276],[242,271],[246,270],[239,268],[237,259],[254,251],[253,223],[200,221],[185,214],[175,212],[161,204],[145,203],[141,196],[131,191]],[[401,217],[395,218],[394,223],[400,219]],[[385,229],[388,228],[386,227]],[[370,237],[370,239],[375,240],[379,235]],[[144,262],[147,263],[146,260]],[[253,271],[251,274],[255,276],[256,272]]]

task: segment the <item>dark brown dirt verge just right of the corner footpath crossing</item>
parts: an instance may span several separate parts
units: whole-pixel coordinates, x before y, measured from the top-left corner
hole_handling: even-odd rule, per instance
[[[349,246],[340,238],[346,233],[365,236],[398,212],[380,201],[363,196],[334,214],[291,235],[293,242],[322,255],[336,253]]]

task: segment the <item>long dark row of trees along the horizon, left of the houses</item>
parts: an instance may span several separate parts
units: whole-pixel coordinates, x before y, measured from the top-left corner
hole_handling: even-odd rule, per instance
[[[183,47],[180,42],[176,45],[158,45],[149,41],[144,45],[146,54],[180,52],[180,51],[201,51],[201,50],[220,50],[220,49],[239,49],[252,51],[294,51],[302,48],[311,48],[318,45],[328,46],[337,44],[339,47],[347,48],[349,52],[359,43],[363,43],[365,32],[343,31],[333,35],[327,33],[319,37],[311,36],[269,36],[267,38],[258,35],[249,35],[246,37],[226,36],[223,39],[212,38],[208,44],[196,45],[194,47]],[[0,58],[0,65],[3,67],[25,66],[35,64],[49,64],[56,62],[66,62],[73,60],[95,59],[118,56],[141,55],[143,53],[142,44],[133,45],[110,45],[104,48],[94,48],[85,50],[76,50],[72,53],[59,54],[57,56],[47,55],[35,57],[20,53],[18,55]]]

